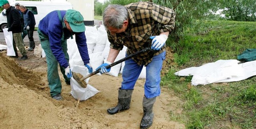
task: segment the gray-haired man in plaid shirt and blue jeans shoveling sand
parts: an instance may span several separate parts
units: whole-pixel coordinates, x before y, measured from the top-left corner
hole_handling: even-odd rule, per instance
[[[100,65],[100,73],[109,72],[112,64],[124,46],[126,56],[143,48],[150,47],[156,52],[144,52],[125,61],[122,73],[122,86],[118,91],[118,104],[109,108],[108,114],[115,114],[130,108],[132,91],[143,65],[146,66],[146,82],[142,102],[144,115],[140,123],[141,129],[153,123],[153,105],[160,95],[160,71],[165,59],[165,42],[174,29],[175,12],[164,6],[151,2],[138,2],[121,5],[109,5],[103,13],[103,23],[107,29],[110,52],[107,62]]]

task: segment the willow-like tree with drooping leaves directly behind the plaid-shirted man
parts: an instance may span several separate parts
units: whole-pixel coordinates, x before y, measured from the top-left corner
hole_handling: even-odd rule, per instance
[[[171,33],[176,41],[184,36],[186,28],[194,27],[194,21],[204,20],[208,14],[218,9],[216,0],[152,0],[152,2],[176,12],[175,28]]]

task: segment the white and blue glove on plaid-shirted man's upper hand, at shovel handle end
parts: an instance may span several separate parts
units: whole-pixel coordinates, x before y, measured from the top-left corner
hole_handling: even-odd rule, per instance
[[[168,36],[164,34],[160,34],[159,36],[150,36],[152,40],[151,49],[152,50],[160,50],[162,46],[164,46]]]

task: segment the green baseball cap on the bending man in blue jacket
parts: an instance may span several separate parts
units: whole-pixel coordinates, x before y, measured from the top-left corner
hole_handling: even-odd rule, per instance
[[[73,32],[84,32],[84,17],[76,10],[67,10],[65,16]]]

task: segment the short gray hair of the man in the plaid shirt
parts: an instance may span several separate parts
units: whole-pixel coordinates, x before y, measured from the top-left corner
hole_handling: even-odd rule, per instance
[[[125,6],[110,4],[103,12],[105,27],[121,29],[125,20],[128,20],[128,10]]]

